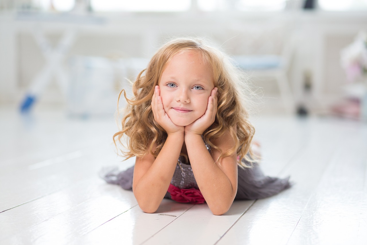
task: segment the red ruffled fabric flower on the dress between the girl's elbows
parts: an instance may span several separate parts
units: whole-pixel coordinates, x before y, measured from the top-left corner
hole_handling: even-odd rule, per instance
[[[171,194],[171,199],[176,202],[201,204],[205,202],[203,195],[200,190],[195,188],[180,189],[170,184],[168,192]]]

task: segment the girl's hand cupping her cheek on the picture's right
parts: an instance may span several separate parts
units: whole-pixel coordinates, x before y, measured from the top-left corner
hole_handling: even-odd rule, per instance
[[[185,134],[202,135],[203,132],[214,123],[215,114],[217,114],[217,106],[218,106],[217,90],[218,88],[216,87],[211,90],[205,114],[200,118],[198,118],[197,120],[195,120],[192,124],[187,125],[185,127]]]

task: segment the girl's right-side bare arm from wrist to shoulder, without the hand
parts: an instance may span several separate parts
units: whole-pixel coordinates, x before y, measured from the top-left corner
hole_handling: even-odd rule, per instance
[[[197,185],[211,212],[221,215],[228,211],[237,193],[237,156],[215,162],[219,152],[208,152],[201,135],[185,134],[186,148]],[[215,142],[224,152],[234,145],[229,134]]]

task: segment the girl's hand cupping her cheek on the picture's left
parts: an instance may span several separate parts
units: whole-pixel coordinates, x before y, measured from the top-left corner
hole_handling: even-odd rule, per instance
[[[152,97],[152,111],[154,120],[164,129],[166,130],[167,134],[177,133],[177,132],[184,132],[185,127],[178,126],[172,123],[170,117],[168,117],[166,111],[163,108],[162,98],[160,96],[159,86],[155,86],[154,94]]]

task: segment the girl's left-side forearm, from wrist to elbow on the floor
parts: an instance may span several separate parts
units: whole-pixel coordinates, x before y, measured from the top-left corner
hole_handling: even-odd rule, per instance
[[[182,144],[183,134],[168,135],[152,166],[139,180],[134,179],[134,195],[144,212],[154,213],[159,207],[172,180]]]

